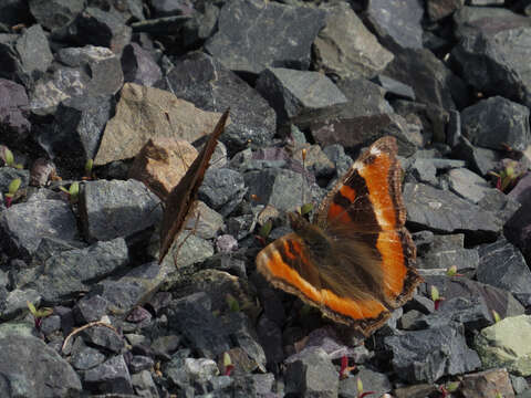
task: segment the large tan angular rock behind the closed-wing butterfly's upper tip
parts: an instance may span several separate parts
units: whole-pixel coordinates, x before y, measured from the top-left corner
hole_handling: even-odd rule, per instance
[[[202,112],[158,88],[126,83],[121,93],[116,115],[107,122],[94,165],[132,158],[152,137],[194,142],[211,132],[221,116]]]

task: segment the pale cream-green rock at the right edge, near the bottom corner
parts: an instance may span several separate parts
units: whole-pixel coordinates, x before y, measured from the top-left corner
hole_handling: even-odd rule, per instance
[[[475,347],[485,367],[504,367],[518,376],[531,375],[531,316],[501,320],[483,328]]]

